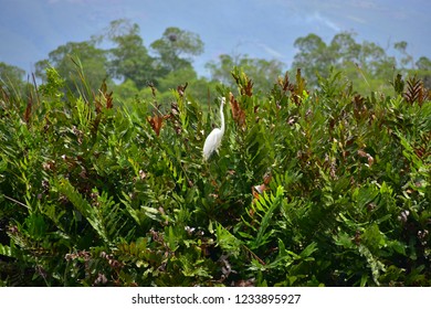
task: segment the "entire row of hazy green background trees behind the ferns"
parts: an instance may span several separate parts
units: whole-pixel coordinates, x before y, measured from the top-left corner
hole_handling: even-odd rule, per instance
[[[396,42],[391,50],[385,50],[374,42],[357,42],[355,38],[354,32],[337,33],[330,42],[325,42],[315,33],[297,38],[294,43],[297,52],[290,68],[277,60],[221,54],[217,61],[206,64],[209,77],[204,77],[198,76],[193,67],[193,58],[204,50],[199,34],[170,26],[160,39],[145,44],[139,25],[120,19],[112,21],[102,35],[84,42],[67,42],[50,52],[46,60],[35,64],[35,75],[45,81],[45,68],[51,65],[65,78],[66,86],[74,89],[76,81],[72,81],[72,73],[78,63],[93,90],[97,90],[105,81],[118,94],[135,89],[135,93],[151,96],[151,90],[147,88],[151,85],[164,97],[176,88],[176,84],[188,82],[202,87],[189,89],[196,95],[199,93],[197,98],[201,102],[208,102],[208,93],[214,90],[217,82],[234,87],[231,78],[233,66],[242,67],[256,88],[263,92],[270,92],[273,82],[284,75],[286,68],[292,74],[301,68],[312,87],[317,87],[318,79],[327,77],[332,68],[343,68],[346,78],[360,92],[390,90],[387,82],[398,73],[418,75],[425,86],[431,86],[430,58],[421,56],[414,60],[408,52],[407,42]],[[102,49],[101,42],[109,47]],[[12,79],[22,78],[22,71],[4,65],[3,75],[7,72]]]

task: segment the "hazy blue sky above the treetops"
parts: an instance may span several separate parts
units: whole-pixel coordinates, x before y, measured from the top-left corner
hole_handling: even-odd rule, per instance
[[[276,58],[290,67],[295,40],[309,33],[329,43],[354,31],[358,42],[389,54],[406,41],[413,58],[431,58],[430,12],[430,0],[0,0],[0,62],[33,72],[57,46],[87,41],[123,18],[139,25],[147,47],[168,26],[199,34],[199,75],[208,75],[204,64],[220,54]]]

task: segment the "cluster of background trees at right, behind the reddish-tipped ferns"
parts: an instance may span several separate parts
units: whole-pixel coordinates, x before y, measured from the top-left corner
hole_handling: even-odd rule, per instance
[[[376,43],[364,41],[359,44],[354,36],[353,32],[341,32],[333,38],[330,44],[313,33],[298,38],[295,41],[298,52],[294,56],[292,70],[301,67],[312,86],[318,85],[317,75],[327,77],[330,67],[335,67],[343,70],[360,92],[389,89],[387,82],[393,78],[396,58],[387,55]],[[404,45],[398,44],[396,47],[403,51]],[[406,60],[402,63],[407,63]]]

